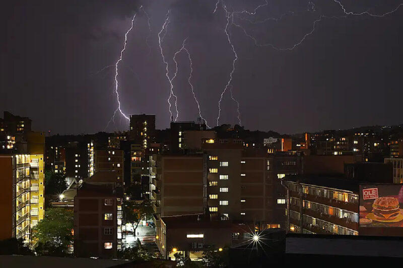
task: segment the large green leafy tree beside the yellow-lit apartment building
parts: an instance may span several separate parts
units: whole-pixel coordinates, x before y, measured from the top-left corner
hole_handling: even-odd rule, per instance
[[[37,240],[35,251],[39,255],[63,256],[73,242],[74,215],[70,210],[50,208],[45,218],[33,228],[32,237]]]

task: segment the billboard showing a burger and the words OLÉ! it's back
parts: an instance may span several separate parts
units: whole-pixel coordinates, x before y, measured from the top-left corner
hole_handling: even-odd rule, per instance
[[[360,185],[359,226],[403,227],[403,186]]]

